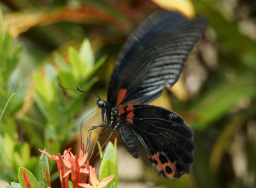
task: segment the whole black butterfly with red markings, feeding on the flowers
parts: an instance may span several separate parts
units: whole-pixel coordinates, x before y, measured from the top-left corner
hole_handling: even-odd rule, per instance
[[[177,82],[207,25],[203,16],[188,19],[166,10],[152,13],[129,36],[118,55],[108,100],[97,101],[102,109],[100,126],[117,131],[135,158],[137,138],[157,174],[166,178],[189,173],[195,162],[193,132],[177,113],[147,103],[158,98],[165,85],[172,87]]]

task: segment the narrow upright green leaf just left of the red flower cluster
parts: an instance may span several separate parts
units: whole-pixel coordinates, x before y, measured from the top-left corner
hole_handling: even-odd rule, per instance
[[[46,168],[50,175],[49,163],[48,163],[47,156],[45,156],[44,154],[41,154],[40,159],[39,159],[39,164],[38,164],[38,182],[39,182],[40,188],[48,187],[46,179],[45,179],[45,169]]]

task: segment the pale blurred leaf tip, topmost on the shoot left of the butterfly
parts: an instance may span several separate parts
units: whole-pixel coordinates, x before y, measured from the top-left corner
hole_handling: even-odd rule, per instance
[[[85,39],[83,41],[79,50],[79,57],[81,61],[88,66],[88,68],[93,68],[94,54],[90,45],[90,41],[88,39]]]

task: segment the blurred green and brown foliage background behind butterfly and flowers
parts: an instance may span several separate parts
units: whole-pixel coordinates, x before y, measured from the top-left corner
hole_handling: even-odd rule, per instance
[[[58,83],[106,99],[127,36],[161,6],[209,18],[179,82],[152,103],[179,113],[193,129],[195,164],[189,175],[167,180],[142,148],[133,159],[119,140],[118,187],[256,187],[256,1],[1,0],[0,6],[0,113],[15,93],[0,117],[0,186],[17,182],[20,166],[35,172],[38,148],[79,149],[81,122],[97,98]],[[98,110],[83,122],[84,142],[101,120]]]

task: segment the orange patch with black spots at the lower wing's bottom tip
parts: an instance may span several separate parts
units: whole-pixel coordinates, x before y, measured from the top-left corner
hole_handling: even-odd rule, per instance
[[[163,154],[164,157],[166,157],[168,163],[164,163],[162,164],[160,159],[159,159],[159,153]],[[148,156],[149,157],[149,156]],[[159,171],[164,171],[164,174],[166,175],[167,178],[171,179],[171,178],[174,178],[175,176],[175,170],[176,170],[176,167],[175,167],[175,163],[176,161],[174,161],[174,163],[171,163],[170,160],[168,159],[168,157],[166,156],[166,154],[164,154],[163,152],[157,152],[156,154],[154,155],[151,155],[150,156],[152,161],[154,161],[154,159],[157,161],[157,169]],[[152,163],[153,166],[155,166],[155,163]],[[171,169],[172,169],[172,173],[167,173],[166,172],[166,166],[169,166]]]

